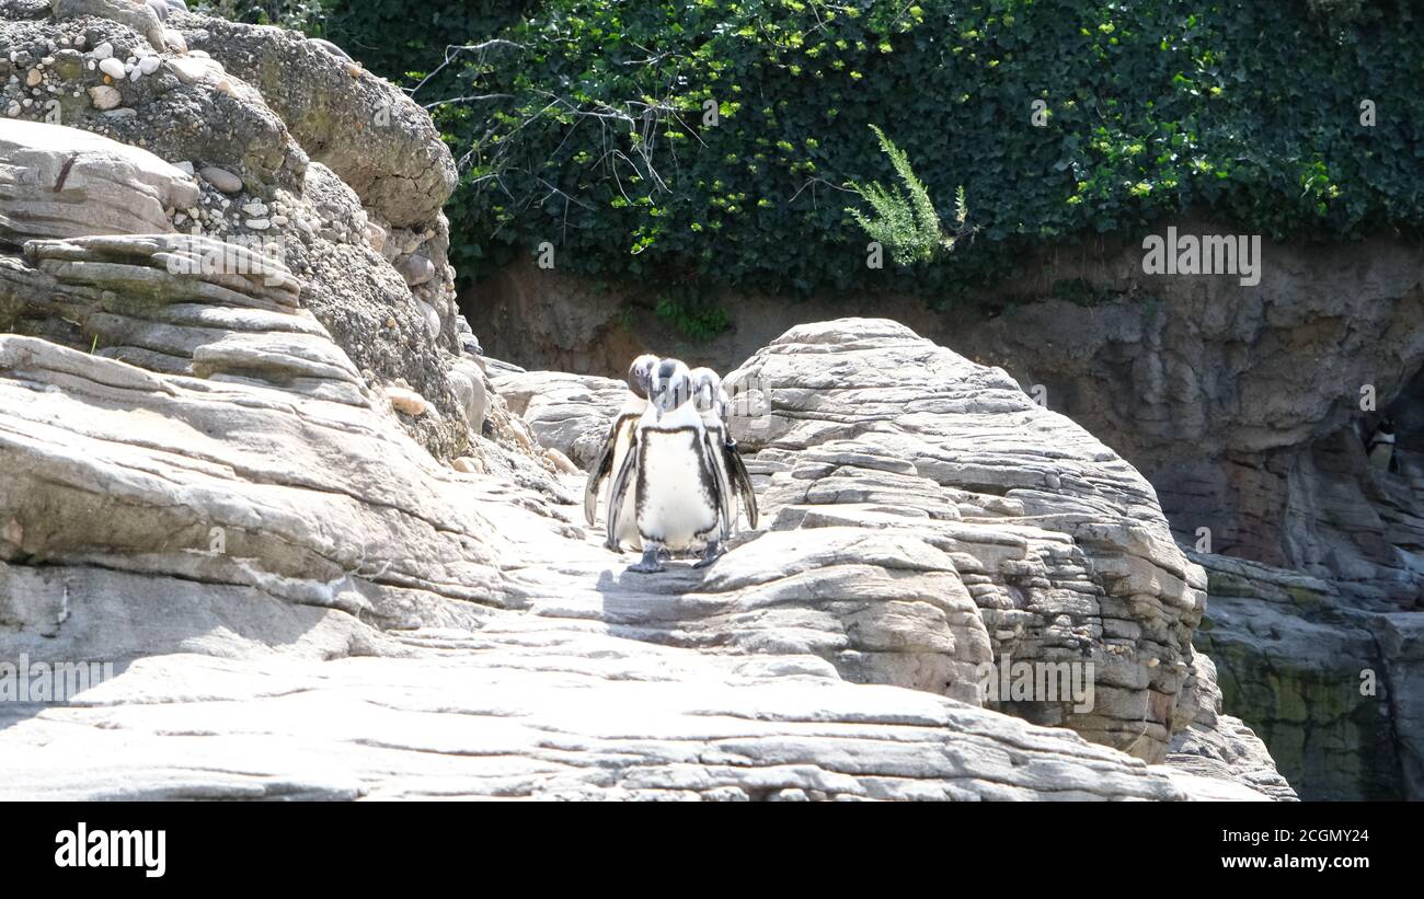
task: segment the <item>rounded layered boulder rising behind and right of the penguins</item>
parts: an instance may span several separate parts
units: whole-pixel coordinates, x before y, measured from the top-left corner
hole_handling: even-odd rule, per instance
[[[494,383],[543,441],[575,459],[588,458],[587,435],[607,430],[622,391],[618,381],[557,373],[508,373]],[[1035,405],[1002,370],[891,321],[839,320],[793,327],[728,383],[740,411],[733,431],[770,522],[770,533],[738,552],[782,533],[795,535],[785,546],[803,550],[836,535],[829,559],[842,565],[827,559],[799,587],[833,596],[856,580],[846,570],[854,566],[843,565],[862,549],[846,536],[894,536],[906,559],[934,572],[940,603],[951,600],[940,612],[948,633],[937,653],[903,633],[884,640],[884,649],[897,646],[893,656],[840,654],[844,677],[943,684],[977,701],[964,687],[983,661],[1091,661],[1089,711],[1069,701],[990,706],[1149,761],[1171,747],[1189,767],[1215,765],[1290,794],[1259,741],[1249,743],[1250,731],[1219,716],[1215,670],[1190,646],[1206,578],[1172,542],[1152,488],[1071,421]],[[785,552],[780,542],[772,546]],[[923,619],[914,612],[918,579],[901,576],[876,593],[909,603],[906,622]]]

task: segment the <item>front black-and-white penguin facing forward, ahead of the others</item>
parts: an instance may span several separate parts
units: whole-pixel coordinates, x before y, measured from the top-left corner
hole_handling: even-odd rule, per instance
[[[642,542],[642,560],[629,572],[664,570],[662,555],[705,543],[705,568],[721,555],[723,509],[716,454],[702,415],[692,403],[688,367],[665,358],[654,370],[648,410],[638,421],[632,444],[608,492],[609,541],[625,526],[628,499]]]

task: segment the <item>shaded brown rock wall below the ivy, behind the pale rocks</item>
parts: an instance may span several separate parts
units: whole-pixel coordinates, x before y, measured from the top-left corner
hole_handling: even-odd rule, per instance
[[[1141,260],[1136,245],[1034,257],[994,297],[1022,302],[990,319],[923,297],[723,296],[733,327],[702,344],[627,314],[635,296],[524,265],[464,307],[491,353],[524,366],[615,373],[614,360],[666,346],[732,368],[797,321],[862,310],[1002,366],[1148,478],[1183,548],[1209,549],[1193,555],[1213,575],[1199,647],[1225,707],[1292,782],[1312,798],[1424,795],[1424,731],[1397,690],[1418,681],[1424,653],[1424,256],[1384,236],[1267,240],[1255,287],[1148,277]],[[1048,299],[1065,283],[1085,296]],[[1368,465],[1358,432],[1384,413],[1397,474]]]

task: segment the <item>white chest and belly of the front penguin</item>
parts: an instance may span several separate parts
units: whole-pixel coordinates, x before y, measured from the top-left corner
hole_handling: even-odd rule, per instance
[[[638,458],[638,531],[686,549],[718,525],[711,472],[695,430],[645,431]]]

